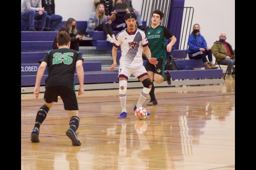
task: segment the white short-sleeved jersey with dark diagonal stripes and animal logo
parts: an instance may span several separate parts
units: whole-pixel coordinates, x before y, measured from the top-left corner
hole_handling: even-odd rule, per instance
[[[130,33],[126,29],[119,32],[114,41],[114,46],[121,45],[122,56],[119,60],[120,66],[143,66],[142,50],[149,45],[145,33],[137,29]]]

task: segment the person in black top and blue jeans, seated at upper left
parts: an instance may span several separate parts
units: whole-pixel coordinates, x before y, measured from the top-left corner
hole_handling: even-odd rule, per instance
[[[47,11],[46,27],[50,27],[51,31],[55,31],[62,21],[62,16],[55,15],[54,0],[42,0],[42,7]]]

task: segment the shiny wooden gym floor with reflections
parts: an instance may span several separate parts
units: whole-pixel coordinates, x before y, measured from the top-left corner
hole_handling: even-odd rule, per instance
[[[65,135],[69,117],[59,99],[31,143],[43,94],[21,95],[21,169],[235,169],[235,80],[221,85],[155,88],[158,105],[137,120],[140,89],[127,90],[127,118],[118,90],[85,91],[78,97],[81,146]],[[149,99],[149,97],[148,97]]]

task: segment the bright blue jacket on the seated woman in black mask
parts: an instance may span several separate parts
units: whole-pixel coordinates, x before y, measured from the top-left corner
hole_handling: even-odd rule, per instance
[[[187,49],[187,53],[193,53],[199,51],[200,48],[206,49],[207,43],[205,38],[199,33],[196,35],[197,41],[195,40],[193,33],[190,34],[189,40],[187,44],[189,45],[189,49]]]

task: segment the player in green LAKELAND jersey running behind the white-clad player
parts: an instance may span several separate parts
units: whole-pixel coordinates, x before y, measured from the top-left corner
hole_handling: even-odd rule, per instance
[[[167,52],[171,52],[172,46],[176,42],[176,38],[172,33],[169,31],[168,28],[160,25],[160,22],[163,19],[163,12],[160,10],[154,10],[152,12],[152,25],[149,29],[145,31],[147,40],[149,41],[149,49],[151,51],[151,56],[157,58],[158,64],[155,67],[153,64],[146,61],[145,68],[147,73],[149,74],[152,88],[149,93],[150,95],[150,102],[147,105],[157,105],[157,100],[155,99],[155,88],[153,84],[153,78],[156,83],[162,83],[163,81],[167,81],[167,83],[171,84],[171,75],[168,70],[165,71],[165,58],[166,58],[166,51],[165,47],[167,48]],[[166,39],[171,39],[171,42],[166,46]]]

